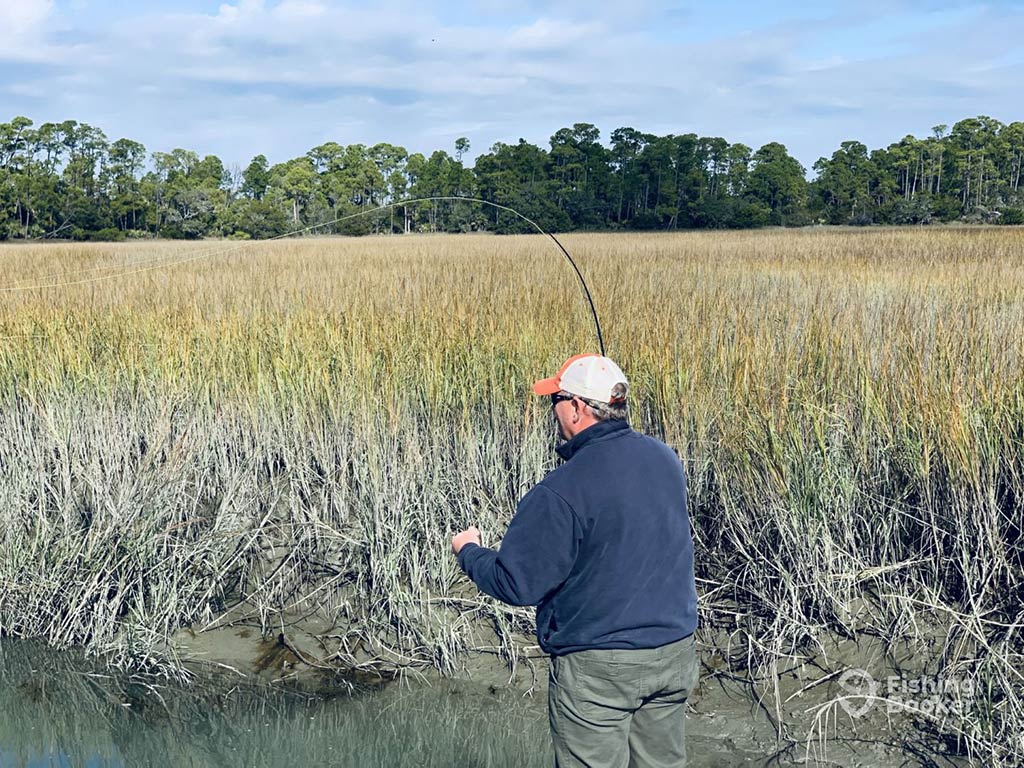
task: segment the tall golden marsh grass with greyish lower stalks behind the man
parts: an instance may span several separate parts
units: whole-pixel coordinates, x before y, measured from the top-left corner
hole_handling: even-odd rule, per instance
[[[686,465],[705,625],[759,670],[938,642],[986,693],[936,733],[1024,756],[1021,234],[564,242]],[[158,657],[244,603],[328,613],[341,660],[521,652],[446,542],[499,539],[554,462],[529,383],[596,348],[549,241],[6,246],[0,291],[5,632]]]

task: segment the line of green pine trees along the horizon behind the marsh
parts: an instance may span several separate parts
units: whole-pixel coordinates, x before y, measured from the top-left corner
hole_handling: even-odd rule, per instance
[[[16,117],[0,124],[0,240],[529,229],[479,204],[387,207],[430,197],[479,198],[553,231],[1024,223],[1024,123],[984,116],[886,148],[844,141],[814,164],[811,180],[778,142],[755,151],[717,136],[618,128],[605,143],[588,123],[556,131],[547,147],[498,142],[472,167],[463,162],[469,148],[459,138],[452,153],[428,157],[329,141],[273,165],[258,155],[242,168],[189,150],[151,155],[73,120],[36,127]],[[376,213],[353,216],[364,212]]]

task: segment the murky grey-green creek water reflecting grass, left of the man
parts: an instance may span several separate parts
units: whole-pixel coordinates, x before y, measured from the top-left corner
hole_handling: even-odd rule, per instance
[[[537,698],[467,684],[312,695],[121,678],[76,653],[0,643],[8,766],[550,766]]]

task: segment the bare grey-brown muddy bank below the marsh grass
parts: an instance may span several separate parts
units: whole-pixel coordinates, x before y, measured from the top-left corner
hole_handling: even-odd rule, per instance
[[[529,638],[519,638],[519,647],[526,650],[513,665],[497,652],[474,652],[460,659],[454,676],[440,676],[427,665],[382,665],[380,659],[367,659],[365,666],[339,674],[331,654],[331,638],[337,635],[338,628],[307,617],[283,621],[279,632],[266,636],[247,625],[184,632],[176,638],[176,648],[189,665],[229,669],[245,679],[314,694],[346,688],[431,691],[438,701],[469,702],[470,709],[487,708],[499,718],[508,708],[530,723],[532,749],[548,749],[548,660],[530,647]],[[699,638],[701,679],[687,722],[693,766],[973,765],[949,754],[950,745],[922,731],[922,724],[906,712],[851,696],[843,672],[864,670],[878,680],[909,675],[916,658],[911,648],[900,654],[878,640],[829,638],[818,655],[780,659],[775,685],[752,681],[736,669],[726,637],[702,633]],[[457,718],[451,727],[474,726]],[[495,754],[488,761],[484,764],[523,764],[510,754]]]

